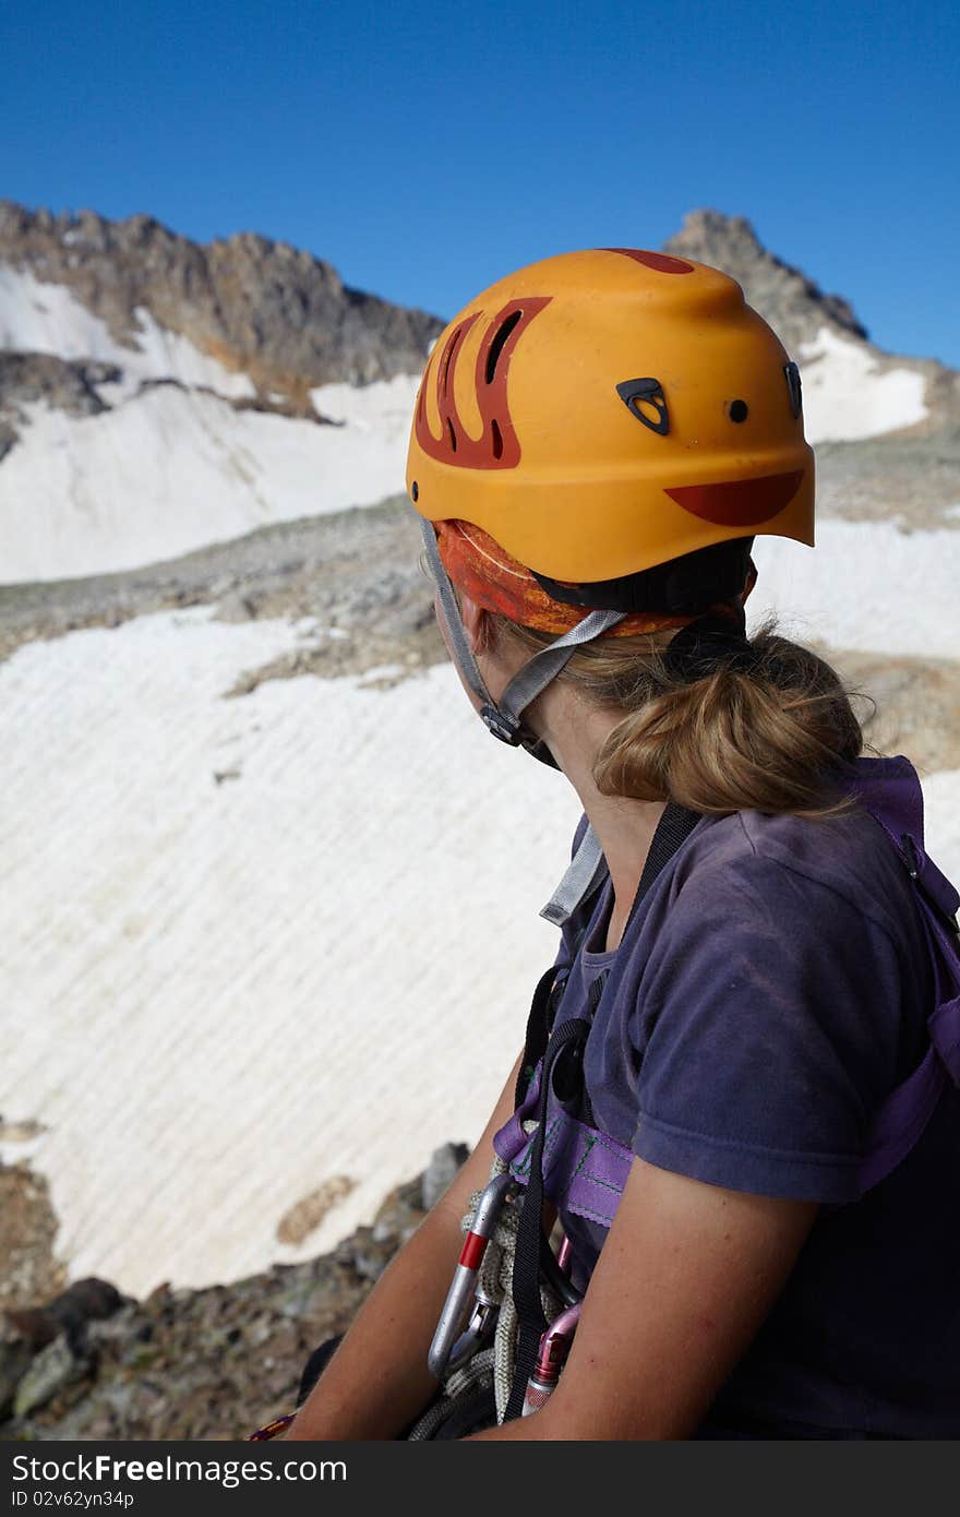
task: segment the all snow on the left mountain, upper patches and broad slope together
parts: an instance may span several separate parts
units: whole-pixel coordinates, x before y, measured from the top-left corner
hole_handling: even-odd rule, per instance
[[[136,320],[136,347],[123,347],[73,291],[0,264],[0,349],[123,369],[99,387],[109,411],[24,408],[0,466],[0,584],[136,569],[403,487],[416,376],[317,387],[314,404],[337,426],[235,411],[221,397],[255,396],[247,375],[143,308]],[[138,394],[146,379],[185,388]]]

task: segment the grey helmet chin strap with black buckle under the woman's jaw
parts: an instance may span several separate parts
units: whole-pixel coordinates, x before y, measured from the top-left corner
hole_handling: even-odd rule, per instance
[[[426,548],[428,563],[434,575],[434,584],[437,586],[440,614],[447,634],[447,643],[466,686],[473,690],[481,702],[481,719],[484,721],[487,730],[493,733],[494,737],[499,737],[500,742],[510,743],[511,748],[525,748],[534,755],[534,758],[540,758],[541,763],[547,763],[555,769],[557,762],[543,739],[537,737],[535,733],[531,733],[531,730],[523,725],[523,711],[531,701],[535,701],[537,696],[546,690],[551,680],[557,678],[560,671],[578,648],[582,648],[584,643],[593,642],[595,637],[599,637],[611,627],[616,627],[617,622],[623,620],[626,613],[590,611],[582,622],[578,622],[578,625],[569,633],[564,633],[563,637],[552,642],[549,648],[544,648],[541,652],[534,654],[532,658],[528,658],[528,661],[517,669],[516,675],[510,680],[497,702],[490,695],[490,690],[484,683],[484,677],[479,672],[476,658],[473,657],[470,640],[460,614],[460,605],[456,604],[456,595],[440,557],[440,548],[437,545],[437,534],[434,532],[432,522],[422,519],[420,529],[423,532],[423,545]]]

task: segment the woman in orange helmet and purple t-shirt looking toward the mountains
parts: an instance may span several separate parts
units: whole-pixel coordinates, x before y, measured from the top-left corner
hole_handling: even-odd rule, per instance
[[[546,259],[435,344],[408,488],[464,687],[585,822],[547,910],[528,1063],[552,1025],[549,1068],[517,1059],[284,1435],[403,1435],[437,1391],[461,1218],[511,1164],[534,1283],[514,1273],[508,1420],[475,1437],[955,1437],[957,895],[911,768],[860,757],[833,669],[745,634],[754,537],[813,543],[796,367],[716,270]],[[575,1335],[520,1418],[537,1268],[558,1285],[541,1188]]]

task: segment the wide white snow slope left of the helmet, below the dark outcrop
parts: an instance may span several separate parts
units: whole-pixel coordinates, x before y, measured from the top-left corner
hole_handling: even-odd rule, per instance
[[[174,387],[97,417],[32,407],[0,466],[0,583],[135,569],[270,522],[375,505],[402,488],[416,384],[356,391],[344,426]],[[340,388],[315,391],[320,407]]]

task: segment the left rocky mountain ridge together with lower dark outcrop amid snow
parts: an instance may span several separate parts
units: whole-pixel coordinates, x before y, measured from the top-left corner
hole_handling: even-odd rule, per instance
[[[187,388],[218,394],[237,410],[323,422],[312,388],[419,372],[443,328],[425,311],[344,285],[331,264],[288,243],[240,232],[200,244],[149,215],[111,221],[93,211],[53,215],[0,200],[5,269],[30,278],[38,308],[44,287],[68,291],[103,323],[114,350],[106,363],[68,350],[82,337],[67,331],[42,349],[11,343],[0,319],[0,461],[36,400],[88,417],[150,384],[184,385],[162,352],[144,375],[144,332],[147,340],[156,331],[167,341],[182,338],[214,370],[237,376],[231,393],[217,384]]]

